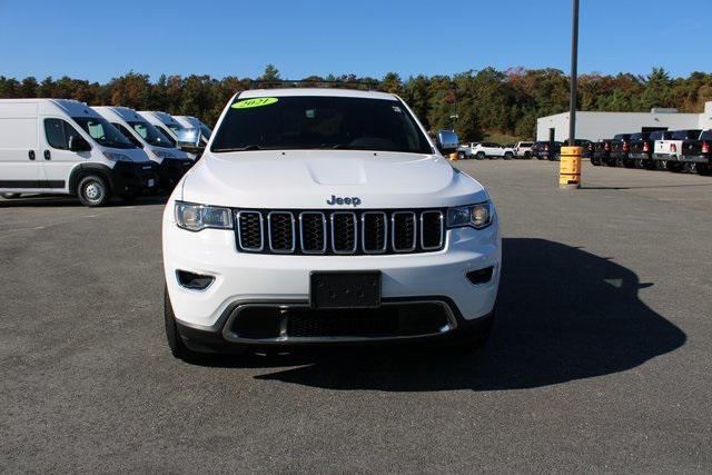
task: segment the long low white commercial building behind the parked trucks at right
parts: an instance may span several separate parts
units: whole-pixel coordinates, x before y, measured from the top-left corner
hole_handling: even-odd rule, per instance
[[[712,101],[702,113],[682,113],[676,109],[650,112],[576,112],[576,138],[601,140],[616,133],[646,130],[711,129]],[[564,141],[568,138],[568,112],[536,119],[536,140]]]

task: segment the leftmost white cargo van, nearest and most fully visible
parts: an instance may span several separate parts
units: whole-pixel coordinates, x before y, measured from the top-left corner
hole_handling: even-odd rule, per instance
[[[156,165],[86,103],[0,99],[0,192],[78,196],[102,206],[157,185]]]

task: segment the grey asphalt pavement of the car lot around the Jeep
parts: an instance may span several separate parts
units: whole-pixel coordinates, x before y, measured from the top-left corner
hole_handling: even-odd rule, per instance
[[[0,199],[0,471],[712,471],[712,178],[467,160],[504,234],[486,348],[190,365],[162,200]]]

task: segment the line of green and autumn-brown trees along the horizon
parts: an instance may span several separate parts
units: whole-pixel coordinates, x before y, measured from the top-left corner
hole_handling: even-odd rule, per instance
[[[279,81],[277,68],[268,65],[258,78],[210,76],[161,76],[151,82],[148,75],[129,72],[107,83],[51,77],[38,81],[0,76],[0,98],[69,98],[89,106],[127,106],[137,110],[164,110],[171,115],[196,116],[212,125],[237,91],[270,87]],[[357,89],[378,89],[399,95],[428,130],[453,128],[466,141],[485,133],[507,133],[533,138],[536,118],[568,110],[568,77],[558,69],[494,68],[469,70],[453,76],[411,76],[403,79],[388,72],[383,78],[342,75],[312,76],[300,86],[324,86],[339,81]],[[663,68],[646,76],[631,73],[583,75],[578,78],[578,110],[649,111],[674,107],[701,112],[712,100],[712,73],[692,72],[672,78]]]

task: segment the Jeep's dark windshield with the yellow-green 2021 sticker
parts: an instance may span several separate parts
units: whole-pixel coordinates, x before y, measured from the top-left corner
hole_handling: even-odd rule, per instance
[[[239,99],[215,132],[212,151],[350,149],[432,154],[395,100],[353,97]]]

